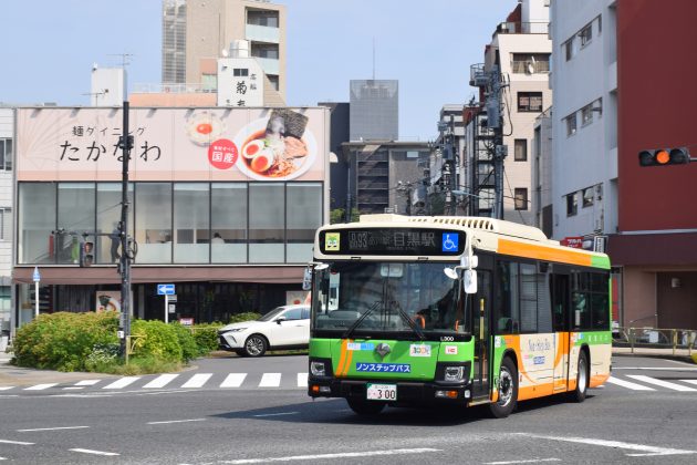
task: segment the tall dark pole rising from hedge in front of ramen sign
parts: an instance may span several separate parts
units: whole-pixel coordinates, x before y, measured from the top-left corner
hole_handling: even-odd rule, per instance
[[[121,187],[121,353],[126,355],[126,344],[131,337],[131,259],[128,240],[128,159],[132,140],[128,137],[128,101],[124,101],[124,121],[122,136],[122,187]]]

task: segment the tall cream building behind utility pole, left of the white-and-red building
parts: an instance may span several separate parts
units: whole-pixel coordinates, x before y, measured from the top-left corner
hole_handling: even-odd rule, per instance
[[[549,86],[552,42],[548,35],[548,1],[522,0],[506,21],[497,27],[491,43],[485,49],[485,62],[477,69],[477,72],[483,73],[498,70],[502,76],[498,111],[503,122],[502,145],[508,153],[503,162],[503,217],[526,225],[533,225],[535,220],[531,207],[533,124],[535,117],[552,103]],[[480,89],[480,99],[483,100],[485,86],[474,79],[470,83]],[[498,118],[498,115],[489,114],[488,117]],[[480,130],[472,130],[474,134],[478,132]],[[483,136],[490,137],[491,134]],[[470,186],[486,204],[492,195],[492,183],[489,183],[492,180],[490,152],[496,147],[485,140],[472,142],[472,153],[480,152],[482,144],[489,146],[482,154],[486,156],[464,161],[471,165],[469,169],[476,173],[474,176],[487,179],[485,185]],[[480,210],[479,214],[486,215],[487,210]]]

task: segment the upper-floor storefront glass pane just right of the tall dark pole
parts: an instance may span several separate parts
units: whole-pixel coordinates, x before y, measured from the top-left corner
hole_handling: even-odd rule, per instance
[[[135,200],[135,262],[171,264],[171,183],[138,183]]]

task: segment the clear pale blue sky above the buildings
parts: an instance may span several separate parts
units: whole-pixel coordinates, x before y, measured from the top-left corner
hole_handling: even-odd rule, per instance
[[[200,1],[200,0],[197,0]],[[429,141],[444,104],[517,0],[277,0],[287,6],[287,103],[347,102],[348,81],[399,81],[399,138]],[[162,79],[162,0],[0,0],[0,102],[87,105],[93,63]]]

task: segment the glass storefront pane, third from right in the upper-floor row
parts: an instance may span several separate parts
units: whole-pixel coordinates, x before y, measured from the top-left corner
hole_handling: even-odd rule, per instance
[[[214,184],[210,215],[211,262],[247,262],[247,184]]]

